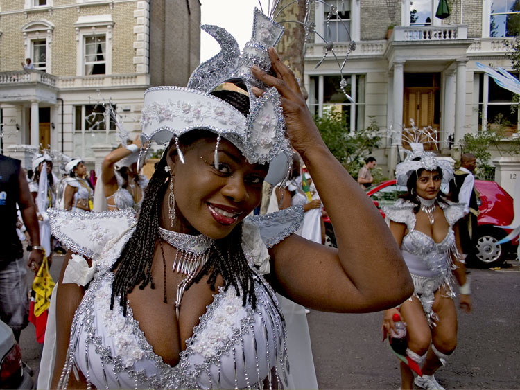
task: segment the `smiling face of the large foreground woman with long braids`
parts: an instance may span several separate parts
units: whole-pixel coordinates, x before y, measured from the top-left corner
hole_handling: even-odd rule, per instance
[[[215,168],[215,143],[216,138],[210,136],[194,141],[187,148],[181,146],[184,164],[180,163],[174,146],[168,150],[168,166],[175,176],[175,231],[224,238],[260,202],[268,166],[248,163],[239,149],[223,139],[218,145],[219,166]],[[169,189],[162,210],[166,221],[168,195]]]

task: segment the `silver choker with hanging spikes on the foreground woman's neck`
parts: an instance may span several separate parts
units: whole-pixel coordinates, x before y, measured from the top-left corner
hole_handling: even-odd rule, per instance
[[[180,272],[186,275],[179,285],[177,285],[177,294],[175,296],[175,314],[179,319],[180,301],[186,290],[186,286],[196,276],[199,267],[205,265],[209,249],[214,244],[214,240],[199,234],[191,236],[189,234],[177,233],[176,231],[166,230],[159,227],[159,236],[169,245],[177,249],[175,258],[173,259],[172,272]],[[177,269],[175,269],[177,266]],[[166,294],[166,293],[165,293]]]

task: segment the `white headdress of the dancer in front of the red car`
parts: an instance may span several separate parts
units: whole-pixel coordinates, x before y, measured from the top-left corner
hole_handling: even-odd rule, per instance
[[[395,179],[399,186],[406,186],[412,172],[417,172],[419,169],[436,170],[440,168],[443,183],[448,183],[453,179],[453,168],[449,161],[437,159],[433,152],[424,152],[424,143],[437,145],[437,139],[431,135],[427,127],[418,129],[412,123],[412,130],[409,130],[406,135],[403,134],[403,137],[405,136],[412,150],[405,149],[404,152],[407,156],[402,163],[398,163],[395,167]]]

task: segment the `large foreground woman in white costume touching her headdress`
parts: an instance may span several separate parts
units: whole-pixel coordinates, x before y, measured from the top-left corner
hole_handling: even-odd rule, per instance
[[[273,289],[332,312],[383,310],[412,293],[378,211],[324,145],[293,73],[266,50],[283,28],[256,10],[242,54],[225,30],[206,30],[223,51],[188,88],[145,94],[141,156],[152,140],[168,148],[139,218],[130,209],[52,212],[53,233],[71,252],[58,285],[51,388],[290,388]],[[289,141],[339,249],[292,234],[302,207],[246,218],[263,180],[288,174]]]

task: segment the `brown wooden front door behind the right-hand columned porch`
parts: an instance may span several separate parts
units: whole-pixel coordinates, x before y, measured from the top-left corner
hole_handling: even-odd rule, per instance
[[[403,102],[403,127],[404,133],[407,128],[411,129],[412,124],[415,127],[422,129],[424,127],[431,127],[432,130],[439,130],[439,124],[435,123],[435,94],[439,87],[405,87],[404,88],[404,102]],[[409,131],[408,131],[409,132]],[[432,136],[438,141],[437,133],[430,131]],[[408,141],[406,141],[406,134],[403,137],[403,146],[410,148]],[[435,143],[427,143],[426,137],[422,140],[424,142],[425,150],[435,150]]]

